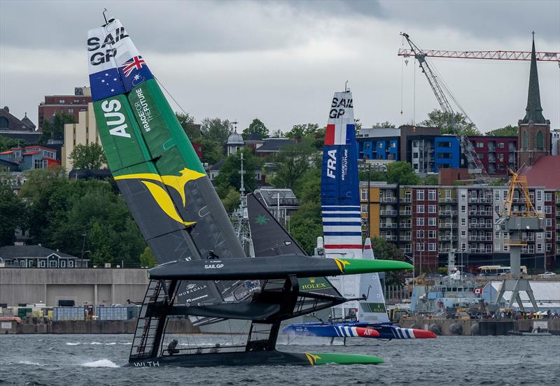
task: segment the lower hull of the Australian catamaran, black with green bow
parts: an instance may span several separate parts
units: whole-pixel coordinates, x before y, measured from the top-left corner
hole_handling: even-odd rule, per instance
[[[139,359],[125,367],[209,367],[209,366],[318,366],[321,364],[381,364],[373,355],[295,353],[276,350],[254,352],[223,352],[221,354],[169,355]]]

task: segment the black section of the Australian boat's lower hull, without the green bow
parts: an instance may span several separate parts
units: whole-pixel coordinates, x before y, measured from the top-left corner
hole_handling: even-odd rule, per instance
[[[125,367],[207,367],[207,366],[262,366],[287,365],[311,366],[304,354],[281,351],[223,352],[221,354],[169,355],[149,359],[138,359]]]

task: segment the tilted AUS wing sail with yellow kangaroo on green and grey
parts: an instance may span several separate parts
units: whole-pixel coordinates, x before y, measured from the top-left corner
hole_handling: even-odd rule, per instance
[[[243,257],[193,145],[120,21],[89,31],[87,50],[109,168],[158,262]],[[200,303],[224,301],[244,283],[182,285],[179,303]]]

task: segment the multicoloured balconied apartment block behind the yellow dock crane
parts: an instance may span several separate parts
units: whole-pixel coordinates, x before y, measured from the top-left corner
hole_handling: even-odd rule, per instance
[[[477,266],[509,265],[507,234],[494,229],[507,186],[406,186],[360,183],[363,221],[370,219],[370,236],[395,243],[414,258],[416,269],[435,270],[456,262],[476,272]],[[524,236],[522,264],[547,269],[560,266],[560,192],[531,187],[531,202],[545,217],[545,231]],[[514,203],[523,204],[519,192]],[[517,208],[514,208],[514,210]],[[367,227],[365,227],[367,229]]]

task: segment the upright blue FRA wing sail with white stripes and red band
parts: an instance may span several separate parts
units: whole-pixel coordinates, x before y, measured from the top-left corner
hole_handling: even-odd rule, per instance
[[[328,114],[321,174],[325,255],[332,259],[360,259],[362,256],[355,130],[352,93],[335,92]],[[348,276],[329,280],[342,296],[359,296],[357,278]],[[344,303],[335,308],[335,316],[342,317],[356,308],[356,301]]]

